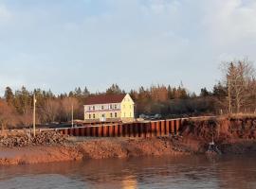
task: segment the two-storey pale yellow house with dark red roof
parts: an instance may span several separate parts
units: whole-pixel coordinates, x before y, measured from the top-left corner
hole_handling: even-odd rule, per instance
[[[103,94],[89,97],[84,105],[85,122],[132,122],[135,103],[129,94]]]

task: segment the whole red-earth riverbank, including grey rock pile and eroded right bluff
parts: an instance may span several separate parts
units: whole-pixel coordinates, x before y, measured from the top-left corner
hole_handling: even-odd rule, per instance
[[[255,118],[243,117],[189,120],[179,129],[178,136],[169,137],[84,138],[82,142],[74,142],[51,133],[29,139],[23,146],[13,146],[20,138],[6,136],[4,139],[8,143],[0,137],[0,165],[202,154],[207,151],[212,138],[223,154],[256,154],[255,128]]]

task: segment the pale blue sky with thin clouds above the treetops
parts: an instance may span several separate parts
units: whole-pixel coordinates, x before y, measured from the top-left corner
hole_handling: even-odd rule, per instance
[[[255,47],[255,0],[0,0],[0,95],[112,83],[199,93],[221,62],[255,65]]]

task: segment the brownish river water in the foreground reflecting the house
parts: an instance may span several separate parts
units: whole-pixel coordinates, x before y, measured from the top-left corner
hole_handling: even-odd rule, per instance
[[[0,167],[0,188],[256,188],[256,157],[87,160]]]

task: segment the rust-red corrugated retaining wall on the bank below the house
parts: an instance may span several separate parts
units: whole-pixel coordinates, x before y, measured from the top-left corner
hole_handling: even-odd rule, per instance
[[[64,135],[87,137],[155,137],[177,134],[184,121],[196,118],[167,119],[150,122],[121,123],[57,129]],[[204,117],[206,118],[206,117]],[[200,117],[199,119],[202,119]]]

